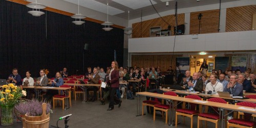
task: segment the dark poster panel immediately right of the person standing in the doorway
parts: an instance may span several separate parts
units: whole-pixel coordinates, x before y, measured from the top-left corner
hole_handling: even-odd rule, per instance
[[[229,68],[229,57],[215,57],[215,69],[224,72],[226,68]]]

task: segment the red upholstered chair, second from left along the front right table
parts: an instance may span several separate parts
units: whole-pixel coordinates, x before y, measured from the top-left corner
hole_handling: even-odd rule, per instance
[[[165,92],[163,93],[164,95],[170,95],[170,96],[178,96],[175,92]],[[171,104],[171,105],[176,105],[177,101],[175,102],[175,104]],[[155,104],[154,105],[154,121],[156,119],[156,110],[160,110],[162,111],[162,118],[164,116],[165,112],[165,124],[167,124],[167,118],[168,118],[168,110],[170,109],[169,104],[164,104],[164,100],[162,100],[162,104]]]

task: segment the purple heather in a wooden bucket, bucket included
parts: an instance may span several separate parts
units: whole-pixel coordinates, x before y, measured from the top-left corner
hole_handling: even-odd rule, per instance
[[[32,99],[20,102],[15,109],[22,116],[23,127],[49,126],[51,103]]]

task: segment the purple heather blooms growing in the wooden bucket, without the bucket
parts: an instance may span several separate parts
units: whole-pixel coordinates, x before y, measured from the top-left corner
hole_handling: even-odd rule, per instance
[[[19,112],[20,115],[25,115],[28,113],[28,116],[40,116],[42,115],[42,103],[44,102],[45,101],[32,99],[16,104],[15,109]],[[51,103],[47,103],[46,114],[49,113],[52,113]]]

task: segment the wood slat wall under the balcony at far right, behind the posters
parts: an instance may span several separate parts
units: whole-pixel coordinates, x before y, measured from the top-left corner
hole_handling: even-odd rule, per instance
[[[231,69],[232,56],[247,56],[246,70],[250,68],[251,72],[256,72],[256,54],[225,54],[225,56],[229,57],[229,69]]]

